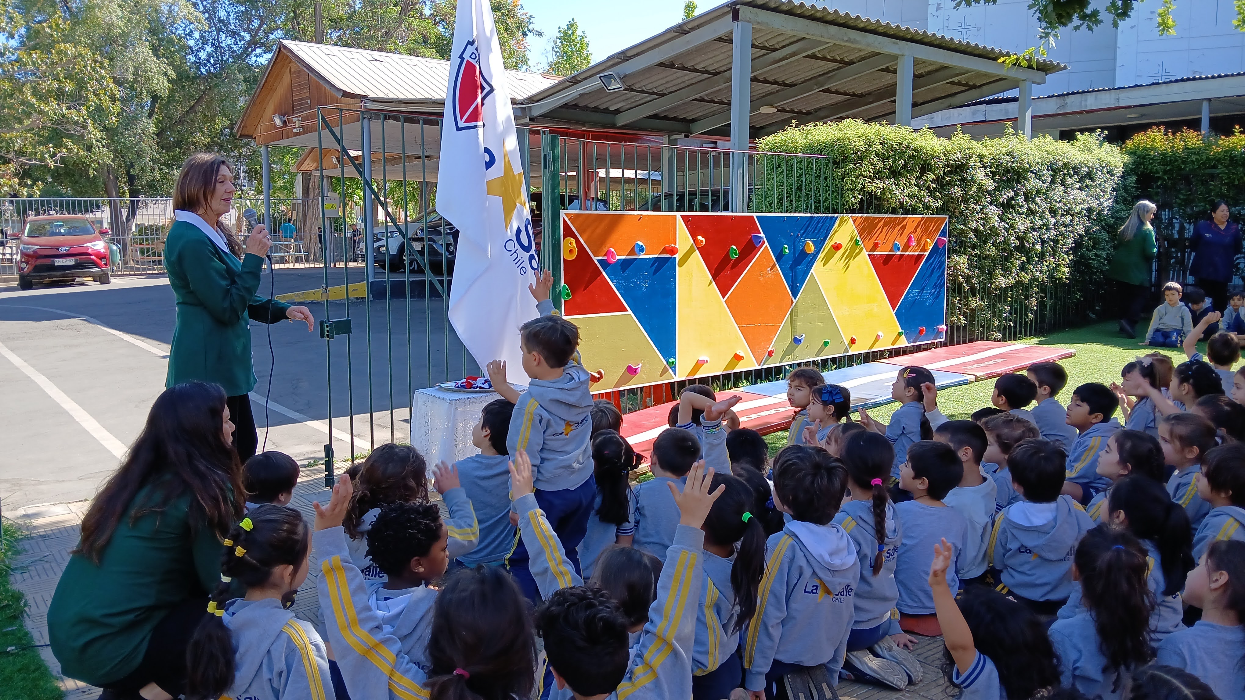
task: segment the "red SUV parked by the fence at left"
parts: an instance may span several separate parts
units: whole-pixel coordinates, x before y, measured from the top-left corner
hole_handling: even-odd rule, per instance
[[[17,255],[17,288],[36,280],[73,281],[95,277],[112,282],[108,244],[86,216],[31,216],[21,234]]]

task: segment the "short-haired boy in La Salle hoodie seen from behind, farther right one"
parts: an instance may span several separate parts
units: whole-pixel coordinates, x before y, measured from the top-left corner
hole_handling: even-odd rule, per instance
[[[990,536],[998,591],[1046,615],[1058,613],[1072,593],[1072,556],[1094,526],[1079,504],[1061,494],[1063,460],[1063,449],[1050,440],[1016,445],[1008,464],[1025,500],[998,513]]]

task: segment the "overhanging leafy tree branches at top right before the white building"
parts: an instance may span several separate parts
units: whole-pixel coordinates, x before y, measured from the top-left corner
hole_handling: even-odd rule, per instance
[[[998,0],[955,0],[956,7],[972,5],[994,5]],[[1102,10],[1093,7],[1093,0],[1030,0],[1030,9],[1037,19],[1040,44],[1020,56],[1001,58],[1001,62],[1011,65],[1037,65],[1037,56],[1046,56],[1048,47],[1055,46],[1059,39],[1059,30],[1072,27],[1073,30],[1087,29],[1093,31],[1101,26],[1106,19]],[[1111,0],[1104,7],[1111,17],[1111,26],[1118,27],[1119,22],[1133,16],[1138,0]],[[1157,14],[1157,22],[1160,35],[1175,34],[1175,19],[1172,16],[1175,10],[1175,0],[1160,0]],[[1236,19],[1233,26],[1245,31],[1245,0],[1235,0]]]

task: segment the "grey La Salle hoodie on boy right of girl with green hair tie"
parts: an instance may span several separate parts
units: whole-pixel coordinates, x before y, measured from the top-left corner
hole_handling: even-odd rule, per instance
[[[860,581],[852,537],[833,522],[792,521],[769,536],[766,553],[757,613],[745,638],[745,688],[764,689],[774,661],[825,664],[838,679]]]

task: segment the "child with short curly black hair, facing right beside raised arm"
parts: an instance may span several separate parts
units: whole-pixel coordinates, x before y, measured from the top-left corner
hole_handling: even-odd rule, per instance
[[[446,574],[448,538],[432,504],[388,504],[367,531],[367,556],[387,577],[367,582],[367,604],[381,617],[385,633],[398,638],[402,653],[426,673],[432,668],[427,645],[437,599],[430,584]]]

